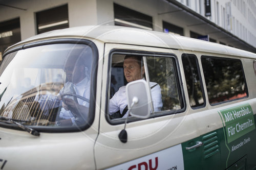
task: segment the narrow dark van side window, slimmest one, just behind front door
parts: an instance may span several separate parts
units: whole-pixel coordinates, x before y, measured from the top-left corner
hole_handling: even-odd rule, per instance
[[[197,57],[193,54],[183,54],[182,64],[186,78],[189,104],[191,108],[202,107],[205,105],[205,99]]]

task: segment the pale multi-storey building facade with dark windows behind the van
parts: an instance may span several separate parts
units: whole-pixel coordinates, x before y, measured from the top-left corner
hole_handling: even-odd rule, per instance
[[[254,0],[3,0],[0,57],[33,35],[84,25],[175,33],[256,53]]]

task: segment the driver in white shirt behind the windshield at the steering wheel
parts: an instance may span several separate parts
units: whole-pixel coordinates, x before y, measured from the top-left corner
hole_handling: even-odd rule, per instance
[[[59,91],[59,95],[62,98],[62,108],[59,117],[62,120],[56,122],[56,125],[73,125],[75,122],[80,121],[79,118],[81,116],[83,119],[88,116],[90,79],[86,76],[86,66],[84,64],[83,58],[76,59],[76,57],[70,57],[65,65],[64,70],[68,82]],[[82,98],[79,98],[79,96]]]

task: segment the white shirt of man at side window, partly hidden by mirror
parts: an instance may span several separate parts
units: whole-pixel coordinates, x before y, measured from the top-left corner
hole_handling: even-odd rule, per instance
[[[150,82],[150,86],[153,87],[157,83]],[[151,89],[152,101],[155,112],[161,111],[163,106],[162,103],[162,94],[159,84]],[[112,115],[115,112],[120,110],[120,113],[123,112],[124,108],[127,106],[125,86],[119,88],[119,90],[114,94],[109,103],[109,114]],[[126,112],[123,117],[127,117],[128,113]]]

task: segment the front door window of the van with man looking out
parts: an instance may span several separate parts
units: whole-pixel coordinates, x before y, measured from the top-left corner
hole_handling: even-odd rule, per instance
[[[143,60],[144,57],[145,60]],[[153,116],[158,116],[159,113],[161,113],[160,115],[172,112],[177,113],[177,110],[184,108],[174,57],[113,54],[111,59],[111,78],[109,79],[110,101],[108,106],[108,113],[111,119],[123,118],[126,113],[125,107],[127,103],[124,89],[127,83],[134,81],[135,73],[132,70],[135,66],[139,68],[139,71],[137,71],[139,79],[144,79],[150,83],[148,88],[151,89],[152,105],[154,108],[154,111],[151,112]],[[133,60],[136,61],[136,65],[129,65],[130,62],[128,61]],[[146,76],[147,73],[148,76]]]

